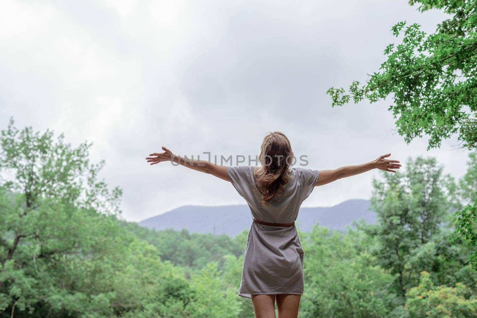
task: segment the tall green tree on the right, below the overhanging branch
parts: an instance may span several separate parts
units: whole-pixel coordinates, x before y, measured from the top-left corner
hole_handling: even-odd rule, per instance
[[[441,246],[437,241],[445,215],[453,212],[442,177],[442,166],[435,158],[408,158],[406,170],[383,174],[384,180],[373,179],[371,208],[377,224],[363,229],[377,239],[374,254],[380,265],[397,274],[394,292],[404,298],[415,286],[421,270],[445,270],[440,264]],[[450,253],[449,250],[446,253]],[[456,266],[461,268],[464,259]]]

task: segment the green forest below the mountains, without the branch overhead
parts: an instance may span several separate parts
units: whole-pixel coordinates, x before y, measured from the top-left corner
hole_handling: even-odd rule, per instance
[[[13,124],[0,139],[0,317],[254,317],[237,295],[248,229],[230,238],[126,222],[92,144]],[[376,224],[297,227],[300,317],[477,317],[475,250],[457,230],[477,203],[477,151],[459,180],[432,157],[380,172]]]

